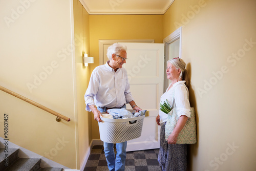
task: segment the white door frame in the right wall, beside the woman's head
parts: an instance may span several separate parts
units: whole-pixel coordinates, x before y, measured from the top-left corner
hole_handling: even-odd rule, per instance
[[[172,44],[172,42],[180,39],[180,52],[179,52],[179,58],[181,58],[181,35],[182,35],[182,27],[178,28],[177,30],[175,30],[173,33],[171,33],[170,35],[168,35],[167,37],[165,37],[163,39],[163,43],[164,43],[164,66],[167,66],[167,61],[169,59],[169,47],[170,44]],[[164,92],[165,90],[168,88],[168,81],[166,80],[167,75],[166,72],[164,71]]]

